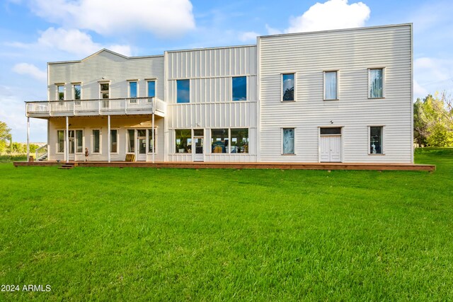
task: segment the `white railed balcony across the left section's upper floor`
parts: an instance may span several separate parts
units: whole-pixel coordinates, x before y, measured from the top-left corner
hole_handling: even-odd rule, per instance
[[[50,100],[25,102],[27,117],[96,115],[165,116],[166,103],[159,98],[103,98],[97,100]]]

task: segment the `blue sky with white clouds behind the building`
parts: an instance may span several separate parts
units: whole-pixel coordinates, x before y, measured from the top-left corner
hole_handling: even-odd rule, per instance
[[[127,3],[127,4],[126,4]],[[413,23],[414,95],[453,93],[453,1],[2,0],[0,120],[25,141],[25,100],[46,100],[47,62],[248,45],[256,35]],[[46,141],[30,119],[31,141]]]

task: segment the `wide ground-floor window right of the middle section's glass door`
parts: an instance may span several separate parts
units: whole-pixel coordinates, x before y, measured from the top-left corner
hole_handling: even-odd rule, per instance
[[[248,129],[211,129],[212,153],[248,153]]]

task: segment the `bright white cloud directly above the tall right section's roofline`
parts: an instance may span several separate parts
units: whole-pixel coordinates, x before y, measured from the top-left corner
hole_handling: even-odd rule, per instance
[[[291,18],[285,33],[357,28],[365,25],[369,13],[369,7],[362,2],[348,4],[348,0],[329,0],[316,3],[302,16]]]

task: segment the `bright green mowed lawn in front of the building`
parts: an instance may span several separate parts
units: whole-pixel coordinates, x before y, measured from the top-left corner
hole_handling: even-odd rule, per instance
[[[435,173],[0,164],[0,301],[451,301]]]

